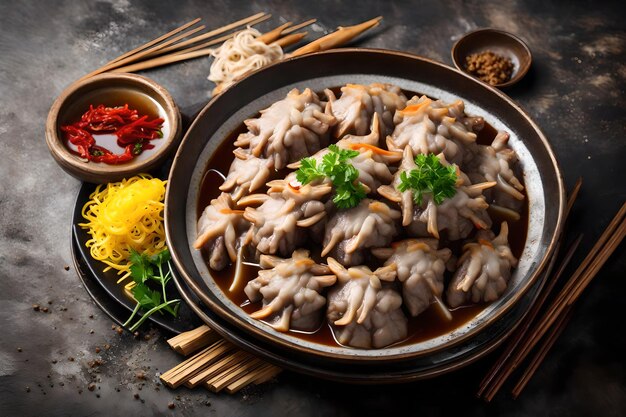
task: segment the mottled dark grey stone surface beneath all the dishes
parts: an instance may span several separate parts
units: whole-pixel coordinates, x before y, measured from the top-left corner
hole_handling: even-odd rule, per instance
[[[448,64],[460,35],[497,27],[521,36],[534,54],[528,76],[507,93],[550,138],[568,186],[584,177],[568,235],[585,233],[582,259],[626,198],[626,9],[620,3],[1,1],[0,415],[346,416],[401,409],[421,416],[626,415],[624,245],[517,401],[506,394],[490,405],[474,398],[494,356],[449,376],[399,386],[348,386],[285,372],[234,396],[157,391],[156,372],[179,359],[163,335],[154,330],[147,342],[118,335],[75,271],[64,269],[71,265],[71,213],[80,183],[57,167],[44,141],[48,109],[68,84],[194,17],[212,28],[264,10],[274,17],[261,29],[317,17],[314,29],[321,32],[384,15],[382,27],[359,45]],[[209,65],[204,58],[146,74],[191,115],[210,98]],[[50,312],[34,312],[34,303]],[[110,349],[96,354],[105,344]],[[90,368],[97,358],[103,364]],[[136,378],[138,371],[146,380]],[[97,387],[90,392],[92,381]],[[167,408],[170,401],[176,409]]]

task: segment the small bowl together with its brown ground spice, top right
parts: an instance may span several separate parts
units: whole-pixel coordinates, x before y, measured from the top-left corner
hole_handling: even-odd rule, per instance
[[[494,87],[509,87],[528,72],[532,54],[517,36],[498,29],[479,29],[452,47],[452,61],[461,71]]]

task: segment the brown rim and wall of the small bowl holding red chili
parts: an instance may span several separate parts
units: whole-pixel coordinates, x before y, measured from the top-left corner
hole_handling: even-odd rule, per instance
[[[164,142],[157,152],[141,162],[130,161],[120,165],[86,164],[77,159],[76,155],[67,149],[63,139],[58,135],[58,124],[61,111],[76,93],[90,86],[94,89],[115,87],[116,82],[124,85],[134,85],[135,88],[143,87],[144,92],[154,99],[163,103],[163,109],[170,119],[169,135],[163,138]],[[98,85],[101,84],[101,85]],[[165,87],[151,78],[130,73],[103,73],[86,79],[79,79],[64,89],[54,100],[46,118],[46,144],[54,160],[71,175],[92,183],[117,181],[142,172],[155,169],[165,162],[167,157],[176,148],[181,139],[182,118],[178,105]]]

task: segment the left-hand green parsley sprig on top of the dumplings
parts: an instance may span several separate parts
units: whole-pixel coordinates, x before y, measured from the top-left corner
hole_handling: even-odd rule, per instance
[[[296,171],[296,178],[305,185],[319,178],[328,177],[335,187],[333,202],[340,209],[355,207],[366,196],[363,184],[357,182],[359,171],[348,160],[359,155],[358,151],[340,149],[330,145],[328,152],[317,164],[314,158],[304,158]]]

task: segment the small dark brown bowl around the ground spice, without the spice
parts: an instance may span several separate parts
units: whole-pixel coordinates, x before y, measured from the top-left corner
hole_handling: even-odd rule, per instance
[[[509,87],[521,80],[532,62],[532,54],[524,41],[498,29],[478,29],[464,35],[452,47],[452,61],[459,70],[468,73],[465,69],[465,58],[485,51],[509,58],[513,62],[511,78],[504,83],[495,84],[494,87],[497,88]]]

